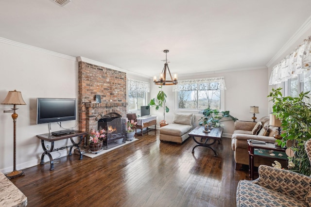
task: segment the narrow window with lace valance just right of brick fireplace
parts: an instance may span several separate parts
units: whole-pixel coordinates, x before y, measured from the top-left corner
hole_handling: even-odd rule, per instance
[[[141,80],[127,80],[128,111],[140,112],[140,106],[147,105],[150,83]]]

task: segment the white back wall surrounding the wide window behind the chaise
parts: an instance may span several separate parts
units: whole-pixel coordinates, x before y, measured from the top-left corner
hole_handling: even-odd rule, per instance
[[[208,77],[225,77],[225,84],[227,90],[225,90],[225,111],[230,111],[230,114],[237,117],[239,120],[252,121],[253,114],[249,113],[250,106],[259,106],[259,114],[256,114],[258,119],[262,116],[268,115],[268,98],[266,97],[268,91],[268,75],[267,68],[241,70],[235,72],[213,73],[213,74],[198,74],[188,76],[183,79],[198,79]],[[165,120],[169,123],[173,121],[174,112],[174,98],[173,86],[163,86],[163,91],[166,93],[167,106],[170,108],[170,112],[166,114]],[[158,85],[151,82],[151,98],[155,97],[159,91]],[[187,111],[190,112],[190,111]],[[163,119],[163,110],[155,111],[151,110],[152,114],[158,116],[158,121]],[[202,117],[202,114],[196,113],[196,121]],[[225,121],[224,136],[230,137],[233,132],[233,122]]]

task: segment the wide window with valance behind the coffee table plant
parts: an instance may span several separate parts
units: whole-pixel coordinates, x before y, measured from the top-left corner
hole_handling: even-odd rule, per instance
[[[223,110],[224,78],[182,80],[173,86],[177,110]]]

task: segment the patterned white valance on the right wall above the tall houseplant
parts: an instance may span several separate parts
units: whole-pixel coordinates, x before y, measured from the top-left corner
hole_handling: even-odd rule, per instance
[[[269,80],[269,85],[275,85],[292,79],[311,69],[311,36],[305,39],[291,54],[276,64]]]

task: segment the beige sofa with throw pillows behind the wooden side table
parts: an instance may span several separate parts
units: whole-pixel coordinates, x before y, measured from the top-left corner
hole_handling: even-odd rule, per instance
[[[234,160],[236,162],[235,169],[240,170],[242,164],[249,164],[248,156],[248,143],[247,140],[260,140],[264,142],[275,142],[276,139],[273,137],[277,134],[277,127],[272,127],[269,125],[269,116],[264,116],[259,119],[262,127],[259,129],[259,135],[253,135],[252,131],[257,124],[257,122],[247,122],[247,121],[236,121],[234,123],[234,132],[231,138],[231,147],[234,152]],[[258,125],[258,124],[257,124]],[[266,136],[263,136],[263,131],[266,132]],[[254,131],[253,131],[254,132]],[[258,167],[260,164],[266,164],[271,166],[271,160],[266,160],[264,158],[256,158],[254,160],[254,166]]]

